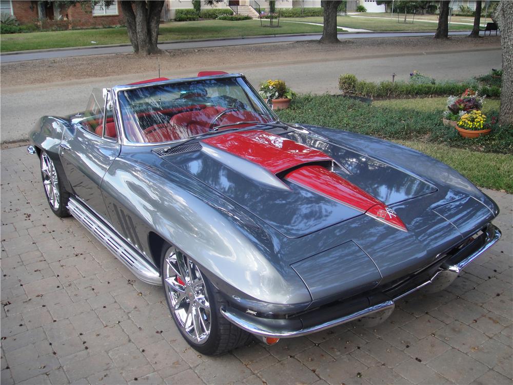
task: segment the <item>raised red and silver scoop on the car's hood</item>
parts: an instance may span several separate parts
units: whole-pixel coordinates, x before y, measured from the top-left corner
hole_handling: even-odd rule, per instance
[[[280,189],[290,189],[293,183],[407,231],[393,209],[344,179],[340,174],[349,171],[322,151],[260,130],[228,133],[202,142],[208,155],[261,183]]]

